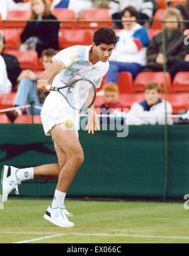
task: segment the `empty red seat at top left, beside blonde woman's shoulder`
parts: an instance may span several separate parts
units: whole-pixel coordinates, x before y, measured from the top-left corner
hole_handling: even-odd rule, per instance
[[[25,27],[27,20],[30,19],[30,10],[20,11],[12,10],[8,12],[6,21],[3,21],[3,27]],[[13,21],[9,21],[13,20]]]

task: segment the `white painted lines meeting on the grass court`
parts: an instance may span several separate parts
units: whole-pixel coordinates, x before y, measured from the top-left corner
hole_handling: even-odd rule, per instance
[[[11,232],[0,232],[0,233],[11,233]],[[13,234],[13,233],[11,233]],[[38,234],[47,234],[47,233],[14,233],[14,234],[28,234],[28,235],[38,235]],[[40,238],[34,238],[31,240],[24,240],[24,241],[18,241],[15,243],[30,243],[32,241],[39,241],[39,240],[44,240],[48,238],[53,238],[56,236],[123,236],[123,237],[142,237],[142,238],[175,238],[175,239],[189,239],[187,236],[146,236],[146,235],[111,235],[111,234],[81,234],[81,233],[72,233],[72,234],[56,234],[56,235],[51,235],[51,236],[42,236]]]

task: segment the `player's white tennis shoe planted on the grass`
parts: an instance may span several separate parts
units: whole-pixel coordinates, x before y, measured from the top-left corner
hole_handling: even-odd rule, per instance
[[[61,228],[71,228],[74,223],[69,221],[67,216],[73,216],[73,214],[69,213],[65,208],[52,208],[49,205],[43,217]]]

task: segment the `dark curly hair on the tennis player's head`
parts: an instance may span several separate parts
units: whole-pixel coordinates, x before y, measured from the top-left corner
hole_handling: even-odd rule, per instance
[[[117,35],[112,28],[101,27],[95,31],[93,35],[93,42],[95,42],[96,46],[99,46],[100,44],[115,45],[117,43]]]

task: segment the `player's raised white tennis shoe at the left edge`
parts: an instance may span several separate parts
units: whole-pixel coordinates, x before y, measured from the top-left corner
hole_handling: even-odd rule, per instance
[[[9,193],[15,188],[16,195],[18,193],[18,185],[21,184],[21,181],[16,177],[16,172],[18,168],[13,166],[3,166],[1,169],[1,183],[0,183],[0,194],[2,195],[2,202],[6,203]]]

